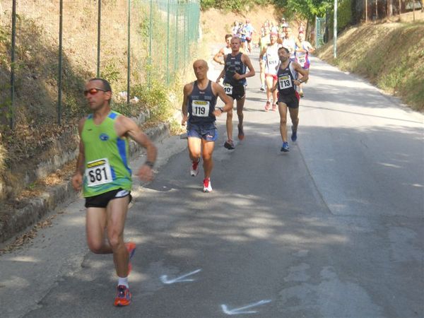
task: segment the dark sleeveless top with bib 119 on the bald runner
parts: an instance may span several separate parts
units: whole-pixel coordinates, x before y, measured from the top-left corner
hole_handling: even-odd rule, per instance
[[[209,124],[216,120],[213,115],[216,105],[216,95],[212,91],[212,82],[208,82],[205,90],[200,90],[197,81],[193,83],[193,91],[188,96],[190,124]]]

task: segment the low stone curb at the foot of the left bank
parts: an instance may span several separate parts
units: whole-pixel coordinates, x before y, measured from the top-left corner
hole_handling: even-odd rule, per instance
[[[160,123],[144,132],[150,139],[157,142],[170,135],[170,125]],[[139,155],[142,147],[134,141],[130,141],[129,152],[131,159]],[[0,243],[11,239],[19,232],[35,225],[43,216],[53,211],[61,204],[66,204],[79,196],[78,192],[73,190],[71,181],[62,182],[54,187],[49,187],[45,192],[33,199],[23,208],[16,210],[6,223],[0,223]]]

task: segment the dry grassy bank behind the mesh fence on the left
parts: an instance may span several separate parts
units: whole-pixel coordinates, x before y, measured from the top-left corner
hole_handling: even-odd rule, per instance
[[[11,201],[23,189],[36,186],[40,163],[60,164],[61,156],[73,153],[78,145],[77,122],[88,112],[81,90],[88,78],[96,76],[97,69],[96,2],[64,1],[61,124],[58,124],[59,3],[21,1],[17,7],[13,63],[15,100],[11,107],[12,6],[11,1],[4,4],[0,1],[0,210],[2,199]],[[181,82],[186,81],[188,74],[185,67],[196,57],[196,53],[191,52],[189,36],[184,37],[186,27],[182,23],[182,15],[189,14],[182,9],[189,4],[181,4],[178,10],[172,7],[175,8],[172,12],[177,13],[172,16],[170,25],[177,23],[178,28],[169,28],[170,37],[175,41],[170,43],[172,46],[167,52],[166,11],[153,6],[151,12],[147,1],[132,1],[131,102],[127,104],[128,1],[101,3],[99,69],[100,77],[110,81],[114,91],[112,107],[131,117],[148,111],[151,119],[169,119],[180,105]],[[150,42],[153,54],[149,57]],[[166,70],[169,85],[165,84]],[[192,78],[192,73],[188,77]],[[9,127],[11,118],[12,129]],[[53,167],[49,165],[42,174],[51,172]]]

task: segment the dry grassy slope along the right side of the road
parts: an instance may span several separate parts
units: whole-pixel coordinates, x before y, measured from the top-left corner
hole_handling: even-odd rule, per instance
[[[318,57],[343,71],[365,76],[424,112],[424,23],[365,24],[346,30],[319,49]]]

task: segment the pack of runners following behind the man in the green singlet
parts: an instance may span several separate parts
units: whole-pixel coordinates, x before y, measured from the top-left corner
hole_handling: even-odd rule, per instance
[[[235,148],[232,139],[232,105],[236,100],[238,117],[238,139],[245,138],[243,127],[243,107],[245,105],[246,78],[255,75],[252,61],[245,53],[252,51],[252,37],[256,33],[250,21],[235,21],[232,34],[225,35],[225,46],[213,57],[216,63],[223,65],[216,83],[207,78],[208,64],[204,60],[195,61],[193,83],[184,86],[182,102],[182,124],[187,122],[187,143],[189,157],[192,160],[190,174],[199,173],[201,157],[204,159],[204,192],[211,192],[212,153],[217,139],[216,116],[227,112],[227,140],[224,147]],[[280,114],[280,133],[283,141],[281,151],[290,151],[287,136],[287,110],[292,122],[291,140],[298,139],[299,100],[303,97],[302,83],[309,78],[310,61],[308,54],[314,51],[310,42],[305,41],[305,26],[300,23],[298,38],[293,37],[292,29],[281,19],[281,24],[274,26],[265,21],[259,36],[259,65],[261,69],[261,88],[266,90],[265,111]],[[247,45],[246,45],[247,43]],[[223,86],[219,86],[223,78]],[[226,94],[223,95],[221,92]],[[216,97],[225,102],[225,107],[216,110]],[[203,151],[202,151],[203,148]]]

